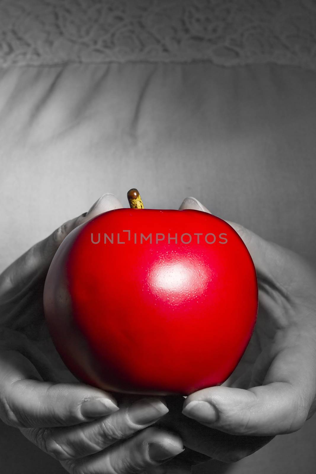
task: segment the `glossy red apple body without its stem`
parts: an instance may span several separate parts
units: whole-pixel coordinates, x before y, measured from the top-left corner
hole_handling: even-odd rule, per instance
[[[113,233],[113,244],[104,244],[104,233]],[[141,233],[152,233],[152,243],[140,244]],[[156,243],[156,233],[165,240]],[[168,233],[178,243],[168,243]],[[203,234],[199,243],[194,233]],[[257,308],[244,242],[198,210],[118,209],[90,219],[65,238],[44,288],[45,318],[64,363],[112,392],[188,395],[223,383],[252,336]]]

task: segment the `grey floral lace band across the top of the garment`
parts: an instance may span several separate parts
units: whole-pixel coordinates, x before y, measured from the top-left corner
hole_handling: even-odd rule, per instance
[[[315,0],[0,0],[0,64],[273,62],[316,70]]]

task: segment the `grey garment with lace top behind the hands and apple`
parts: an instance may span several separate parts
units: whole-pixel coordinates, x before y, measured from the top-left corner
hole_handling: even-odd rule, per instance
[[[315,0],[0,0],[0,271],[104,192],[194,196],[316,264]],[[235,464],[312,474],[316,418]],[[62,474],[0,424],[1,474]]]

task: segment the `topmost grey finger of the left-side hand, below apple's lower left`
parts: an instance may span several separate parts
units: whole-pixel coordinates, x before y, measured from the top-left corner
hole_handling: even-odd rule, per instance
[[[42,382],[26,357],[15,351],[1,351],[0,418],[8,425],[69,426],[116,410],[116,400],[109,393],[79,383]]]

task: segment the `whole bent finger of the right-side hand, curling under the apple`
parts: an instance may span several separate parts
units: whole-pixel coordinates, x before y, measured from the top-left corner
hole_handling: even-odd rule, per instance
[[[284,336],[283,336],[284,337]],[[289,330],[272,355],[263,385],[248,390],[210,387],[192,393],[182,413],[227,433],[274,436],[300,429],[316,392],[315,340]]]

